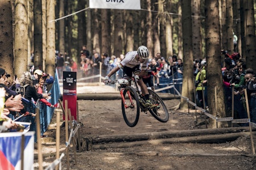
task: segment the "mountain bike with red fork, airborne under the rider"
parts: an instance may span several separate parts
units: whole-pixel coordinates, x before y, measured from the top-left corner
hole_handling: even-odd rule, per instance
[[[133,82],[135,87],[130,86]],[[139,121],[140,109],[142,112],[149,111],[156,120],[160,122],[167,122],[169,120],[169,113],[163,100],[156,94],[156,92],[148,89],[150,94],[151,107],[146,107],[146,99],[143,97],[142,92],[135,81],[134,77],[129,79],[109,80],[109,83],[118,83],[122,100],[122,114],[126,124],[130,127],[137,125]]]

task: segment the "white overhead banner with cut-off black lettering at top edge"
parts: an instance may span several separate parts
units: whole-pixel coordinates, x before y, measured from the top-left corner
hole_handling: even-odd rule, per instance
[[[141,0],[89,0],[90,8],[141,10]]]

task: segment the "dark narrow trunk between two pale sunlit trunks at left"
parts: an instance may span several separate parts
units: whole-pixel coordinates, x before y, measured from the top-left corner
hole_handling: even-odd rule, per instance
[[[34,66],[43,69],[42,1],[34,1]]]

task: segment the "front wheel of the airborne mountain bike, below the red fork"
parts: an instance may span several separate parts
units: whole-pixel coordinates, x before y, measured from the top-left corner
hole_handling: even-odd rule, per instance
[[[129,98],[129,94],[131,94],[131,99]],[[130,127],[134,127],[137,125],[139,121],[139,97],[136,90],[131,87],[127,86],[123,91],[123,96],[125,97],[125,102],[127,108],[125,108],[125,104],[122,101],[122,113],[123,119],[125,120],[126,124]]]

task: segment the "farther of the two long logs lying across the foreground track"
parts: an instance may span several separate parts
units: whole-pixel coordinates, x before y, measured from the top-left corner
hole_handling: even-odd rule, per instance
[[[93,138],[92,144],[108,143],[108,142],[146,141],[150,139],[188,137],[188,136],[196,136],[196,135],[239,133],[243,131],[249,131],[249,127],[173,130],[173,131],[164,131],[164,132],[155,132],[155,133],[139,133],[139,134],[100,135],[97,137],[92,137]]]

